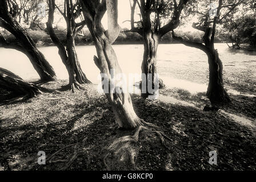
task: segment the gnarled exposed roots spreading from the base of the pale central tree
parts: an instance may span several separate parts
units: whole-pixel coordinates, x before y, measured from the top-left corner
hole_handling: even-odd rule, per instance
[[[149,124],[150,123],[147,123],[147,126],[149,126]],[[103,163],[105,164],[106,169],[137,169],[134,160],[138,151],[136,144],[139,141],[139,134],[143,130],[145,130],[148,135],[152,135],[152,133],[157,134],[157,137],[159,137],[161,140],[162,145],[168,148],[165,142],[165,138],[168,140],[171,139],[161,131],[155,131],[154,129],[156,127],[157,126],[151,124],[150,127],[138,126],[135,129],[135,133],[133,135],[126,135],[125,137],[114,139],[114,141],[106,147],[107,152],[103,158]]]

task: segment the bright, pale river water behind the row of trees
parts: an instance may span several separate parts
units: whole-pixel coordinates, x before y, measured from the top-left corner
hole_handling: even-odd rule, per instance
[[[119,65],[123,73],[141,74],[143,56],[142,44],[114,45]],[[96,55],[94,46],[77,46],[79,63],[86,76],[99,83],[99,69],[95,66],[93,56]],[[215,44],[219,57],[224,66],[224,77],[236,80],[235,77],[248,73],[247,79],[256,78],[256,52],[230,51],[226,44]],[[58,78],[68,79],[57,47],[39,48],[46,59],[53,66]],[[199,49],[184,46],[183,44],[160,44],[158,47],[157,66],[159,77],[167,87],[178,87],[189,90],[191,93],[205,92],[209,78],[207,56]],[[9,69],[23,79],[39,78],[29,59],[22,52],[14,49],[0,48],[0,67]],[[241,76],[241,78],[243,78]],[[137,80],[134,81],[138,81]]]

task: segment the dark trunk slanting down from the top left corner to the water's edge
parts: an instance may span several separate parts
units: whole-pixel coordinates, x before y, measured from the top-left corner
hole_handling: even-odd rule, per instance
[[[9,11],[12,10],[12,11]],[[55,79],[55,72],[45,56],[35,46],[34,41],[27,35],[24,28],[15,20],[15,13],[12,8],[9,8],[7,0],[0,1],[0,27],[5,28],[18,40],[14,43],[8,43],[2,37],[2,46],[6,48],[15,48],[29,57],[31,64],[37,71],[42,81],[50,81]]]

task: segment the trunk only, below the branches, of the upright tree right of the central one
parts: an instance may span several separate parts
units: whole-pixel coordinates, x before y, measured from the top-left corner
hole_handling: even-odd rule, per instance
[[[165,87],[163,81],[157,76],[157,48],[159,36],[151,32],[143,34],[144,53],[141,65],[142,69],[142,93],[143,98],[154,97],[158,89]],[[157,85],[156,85],[157,84]],[[143,88],[145,87],[145,88]]]

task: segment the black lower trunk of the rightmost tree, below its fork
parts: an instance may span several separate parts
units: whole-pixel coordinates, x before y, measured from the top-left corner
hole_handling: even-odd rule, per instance
[[[207,53],[209,63],[209,85],[207,97],[212,105],[225,104],[230,102],[229,95],[223,86],[222,71],[223,65],[216,49]]]

